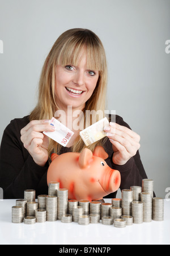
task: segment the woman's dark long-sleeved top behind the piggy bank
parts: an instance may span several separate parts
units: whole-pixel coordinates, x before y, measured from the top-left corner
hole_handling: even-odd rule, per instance
[[[14,119],[7,125],[0,149],[0,187],[3,188],[4,199],[22,199],[24,190],[34,189],[37,195],[48,195],[48,184],[46,174],[49,167],[49,161],[44,167],[37,165],[27,149],[24,148],[20,140],[20,130],[29,123],[29,116],[21,119]],[[116,115],[116,123],[129,127],[122,117]],[[139,152],[131,157],[125,165],[114,165],[112,161],[112,144],[107,139],[103,145],[109,157],[107,164],[120,171],[121,185],[120,189],[130,188],[130,186],[142,186],[142,179],[147,175],[143,168]],[[69,152],[70,148],[62,147],[61,154]],[[105,198],[116,198],[117,191],[105,196]]]

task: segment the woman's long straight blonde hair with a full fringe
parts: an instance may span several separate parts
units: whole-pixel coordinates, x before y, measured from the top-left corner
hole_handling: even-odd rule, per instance
[[[77,65],[82,51],[87,54],[87,69],[99,70],[99,79],[97,81],[94,93],[87,100],[86,110],[105,110],[105,97],[107,93],[107,61],[103,44],[99,37],[90,30],[83,28],[73,28],[62,33],[54,43],[50,50],[44,66],[42,67],[39,81],[39,98],[37,106],[31,112],[29,120],[51,119],[56,110],[58,110],[55,99],[55,77],[56,66],[60,65]],[[86,115],[84,115],[85,122]],[[92,121],[91,121],[92,122]],[[92,123],[91,123],[92,124]],[[88,146],[92,151],[96,145],[100,145],[101,141]],[[80,136],[74,141],[71,148],[72,152],[80,152],[86,148]],[[59,153],[61,145],[50,140],[49,156],[52,152]]]

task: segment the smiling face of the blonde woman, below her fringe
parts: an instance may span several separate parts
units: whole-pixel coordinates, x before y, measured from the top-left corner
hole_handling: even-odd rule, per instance
[[[57,65],[55,95],[60,110],[83,110],[85,103],[91,97],[99,78],[98,70],[87,69],[87,56],[82,56],[77,66]]]

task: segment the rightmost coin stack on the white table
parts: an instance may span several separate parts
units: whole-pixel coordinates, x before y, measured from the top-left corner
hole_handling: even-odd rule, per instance
[[[152,220],[164,220],[164,199],[152,198]]]

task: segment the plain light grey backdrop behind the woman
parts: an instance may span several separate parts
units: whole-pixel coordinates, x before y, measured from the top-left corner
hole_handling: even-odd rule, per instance
[[[108,106],[141,136],[141,159],[157,196],[170,187],[169,0],[0,0],[1,128],[35,107],[45,57],[57,37],[89,28],[108,61]]]

